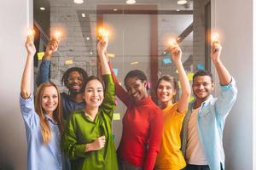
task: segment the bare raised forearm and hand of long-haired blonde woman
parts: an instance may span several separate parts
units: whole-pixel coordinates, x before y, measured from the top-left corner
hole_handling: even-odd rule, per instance
[[[26,64],[25,68],[21,77],[21,83],[20,83],[20,94],[23,99],[28,99],[28,97],[31,94],[31,84],[32,84],[32,63],[33,63],[33,57],[36,53],[36,48],[34,45],[34,37],[29,36],[26,37]]]

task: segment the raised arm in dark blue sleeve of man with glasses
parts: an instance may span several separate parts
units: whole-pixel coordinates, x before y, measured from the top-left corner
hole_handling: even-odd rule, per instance
[[[59,45],[59,42],[55,39],[52,39],[50,40],[50,42],[46,47],[44,58],[38,70],[38,77],[37,77],[38,86],[43,82],[49,81],[49,63],[50,63],[52,54],[54,54],[55,51],[57,51],[58,45]]]

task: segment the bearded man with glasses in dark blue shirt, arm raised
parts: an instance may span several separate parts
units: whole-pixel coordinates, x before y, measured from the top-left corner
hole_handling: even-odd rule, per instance
[[[49,66],[51,55],[55,53],[58,48],[59,41],[51,39],[47,45],[44,53],[44,58],[38,70],[37,84],[38,86],[43,82],[49,81]],[[72,111],[84,109],[84,99],[82,87],[88,75],[84,69],[79,67],[69,68],[63,74],[61,79],[68,89],[68,94],[61,93],[61,104],[63,108],[63,118],[67,120]]]

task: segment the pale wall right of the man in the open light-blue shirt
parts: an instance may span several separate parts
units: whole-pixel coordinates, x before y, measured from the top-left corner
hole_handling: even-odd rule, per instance
[[[251,170],[253,169],[253,121],[255,122],[253,120],[253,0],[212,0],[212,26],[216,26],[220,32],[223,45],[221,59],[236,78],[238,87],[238,98],[224,129],[226,169]]]

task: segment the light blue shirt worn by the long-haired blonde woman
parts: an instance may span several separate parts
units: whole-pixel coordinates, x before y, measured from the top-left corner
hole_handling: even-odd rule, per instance
[[[66,158],[61,153],[61,134],[58,125],[49,116],[46,116],[50,127],[51,138],[48,144],[43,144],[40,118],[35,112],[32,97],[23,99],[20,96],[20,111],[26,127],[27,169],[66,169],[68,162],[66,162]]]

